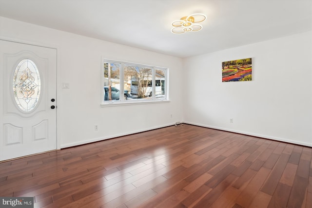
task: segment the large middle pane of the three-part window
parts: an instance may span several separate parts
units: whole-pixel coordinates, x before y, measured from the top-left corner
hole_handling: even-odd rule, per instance
[[[153,99],[152,68],[125,64],[124,89],[130,90],[129,99]]]

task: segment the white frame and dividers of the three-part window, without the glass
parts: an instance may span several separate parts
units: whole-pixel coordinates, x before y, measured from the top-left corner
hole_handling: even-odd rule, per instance
[[[104,63],[105,62],[111,62],[111,63],[118,63],[120,64],[120,92],[124,92],[124,66],[125,64],[128,65],[135,65],[138,67],[147,67],[152,69],[152,83],[153,84],[153,91],[152,91],[152,99],[131,99],[131,100],[124,100],[123,99],[123,93],[119,93],[119,100],[110,100],[110,101],[104,101]],[[165,96],[163,99],[156,99],[156,70],[164,70],[165,74]],[[137,63],[131,63],[131,62],[125,62],[125,61],[117,61],[112,59],[106,59],[102,57],[101,61],[101,107],[109,107],[109,106],[120,106],[120,105],[139,105],[139,104],[152,104],[152,103],[166,103],[170,102],[169,95],[168,95],[168,76],[169,75],[169,69],[165,67],[156,67],[146,64],[137,64]],[[121,84],[122,83],[122,84]]]

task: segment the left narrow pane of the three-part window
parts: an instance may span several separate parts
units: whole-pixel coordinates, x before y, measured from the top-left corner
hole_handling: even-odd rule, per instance
[[[120,98],[120,63],[104,62],[104,101]]]

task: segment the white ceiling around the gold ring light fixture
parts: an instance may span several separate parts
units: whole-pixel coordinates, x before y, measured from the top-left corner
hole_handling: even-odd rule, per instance
[[[171,33],[194,13],[199,32]],[[312,0],[0,0],[0,16],[175,57],[312,30]]]

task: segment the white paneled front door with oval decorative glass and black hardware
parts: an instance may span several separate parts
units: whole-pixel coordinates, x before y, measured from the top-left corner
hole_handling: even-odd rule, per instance
[[[56,150],[57,50],[0,40],[0,161]]]

